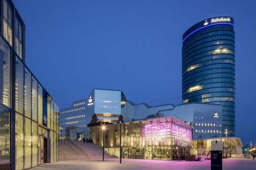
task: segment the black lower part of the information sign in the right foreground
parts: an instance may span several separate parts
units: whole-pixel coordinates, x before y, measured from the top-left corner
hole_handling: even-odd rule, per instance
[[[211,151],[211,170],[222,170],[222,150]]]

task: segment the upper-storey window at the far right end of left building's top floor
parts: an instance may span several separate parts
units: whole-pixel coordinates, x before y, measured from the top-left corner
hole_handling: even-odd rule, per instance
[[[23,39],[23,24],[19,21],[18,17],[15,17],[15,51],[22,59],[22,39]]]

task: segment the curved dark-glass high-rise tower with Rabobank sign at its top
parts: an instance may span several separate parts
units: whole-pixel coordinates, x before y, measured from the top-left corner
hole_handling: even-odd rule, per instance
[[[235,136],[235,33],[232,17],[203,20],[183,34],[183,103],[223,106],[223,136]]]

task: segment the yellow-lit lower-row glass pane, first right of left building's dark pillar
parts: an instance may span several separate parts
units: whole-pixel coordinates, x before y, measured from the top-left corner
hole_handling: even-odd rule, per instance
[[[24,116],[16,113],[15,160],[16,170],[24,169]]]

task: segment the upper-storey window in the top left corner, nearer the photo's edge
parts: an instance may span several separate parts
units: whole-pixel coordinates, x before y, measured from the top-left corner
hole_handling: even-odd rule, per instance
[[[3,37],[12,46],[12,7],[3,0]]]

